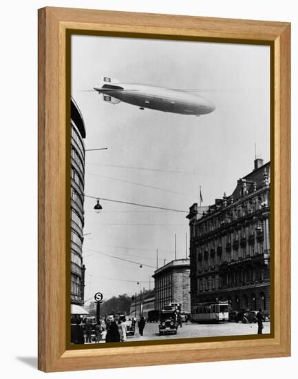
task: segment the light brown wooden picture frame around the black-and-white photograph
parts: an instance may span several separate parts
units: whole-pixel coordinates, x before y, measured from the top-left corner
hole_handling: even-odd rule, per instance
[[[269,338],[67,349],[66,40],[70,30],[270,46],[274,322]],[[70,97],[68,98],[70,99]],[[257,336],[255,336],[257,337]],[[69,371],[290,356],[290,23],[39,10],[39,369]]]

